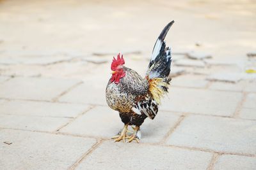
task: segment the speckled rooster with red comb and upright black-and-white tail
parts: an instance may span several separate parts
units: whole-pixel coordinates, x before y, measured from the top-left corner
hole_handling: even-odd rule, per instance
[[[154,45],[145,78],[136,71],[125,67],[123,55],[113,57],[112,76],[106,87],[108,106],[119,112],[124,128],[114,136],[115,141],[140,142],[140,126],[145,118],[154,119],[157,115],[161,97],[168,92],[172,63],[170,47],[166,47],[164,38],[174,21],[164,27]],[[134,132],[128,126],[134,125]],[[130,134],[130,135],[129,135]]]

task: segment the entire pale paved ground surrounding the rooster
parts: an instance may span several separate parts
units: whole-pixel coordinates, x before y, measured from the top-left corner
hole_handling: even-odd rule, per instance
[[[256,169],[255,3],[221,2],[1,1],[0,169]],[[145,74],[167,14],[170,93],[141,143],[113,143],[111,59]]]

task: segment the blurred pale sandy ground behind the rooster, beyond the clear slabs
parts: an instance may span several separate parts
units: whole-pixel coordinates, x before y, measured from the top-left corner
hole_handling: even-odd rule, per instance
[[[173,77],[252,80],[255,9],[250,0],[0,1],[0,74],[84,80],[101,72],[108,81],[118,52],[145,74],[157,36],[175,20],[166,37]]]

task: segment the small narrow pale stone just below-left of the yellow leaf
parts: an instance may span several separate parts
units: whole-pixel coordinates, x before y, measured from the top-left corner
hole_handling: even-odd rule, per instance
[[[237,83],[242,79],[241,73],[216,73],[211,74],[206,78],[209,81],[225,81],[230,83]]]

